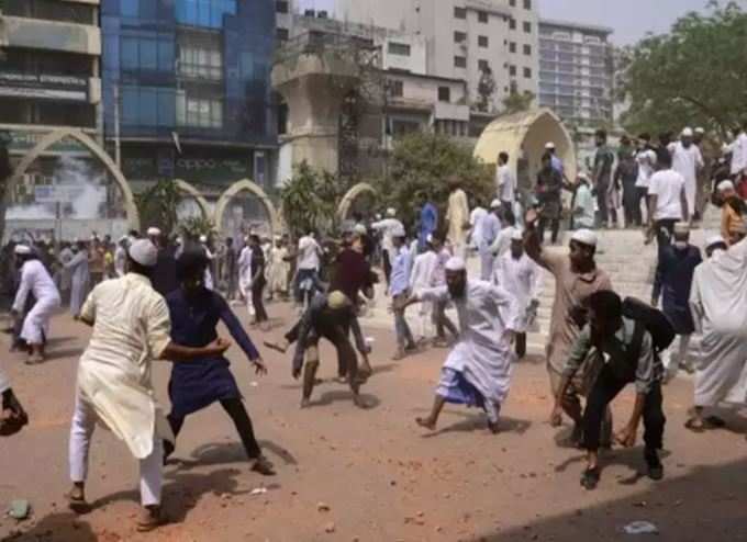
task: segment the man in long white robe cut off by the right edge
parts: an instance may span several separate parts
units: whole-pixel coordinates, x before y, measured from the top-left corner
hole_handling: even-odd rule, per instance
[[[718,239],[709,245],[707,251],[716,249],[695,268],[690,292],[695,329],[703,336],[695,416],[688,421],[688,428],[696,431],[706,426],[704,407],[747,403],[747,240],[728,250]]]

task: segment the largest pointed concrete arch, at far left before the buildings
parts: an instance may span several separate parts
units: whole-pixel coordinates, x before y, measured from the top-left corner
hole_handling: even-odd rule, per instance
[[[137,213],[137,206],[135,205],[135,197],[132,193],[132,190],[130,189],[127,180],[124,178],[124,174],[122,174],[122,171],[116,167],[116,163],[114,163],[107,151],[80,129],[60,128],[55,129],[54,132],[51,132],[42,137],[34,148],[26,153],[13,171],[8,184],[8,193],[11,193],[13,187],[15,187],[15,183],[21,180],[29,167],[42,155],[42,153],[66,137],[73,137],[74,139],[78,140],[81,145],[88,148],[88,150],[90,150],[93,156],[103,162],[109,172],[114,177],[120,190],[122,190],[124,211],[127,215],[130,227],[133,229],[140,229],[140,215]]]

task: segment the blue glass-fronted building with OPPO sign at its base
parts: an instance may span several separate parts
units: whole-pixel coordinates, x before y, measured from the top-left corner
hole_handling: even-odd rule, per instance
[[[101,32],[104,136],[119,128],[129,179],[267,182],[272,0],[102,0]]]

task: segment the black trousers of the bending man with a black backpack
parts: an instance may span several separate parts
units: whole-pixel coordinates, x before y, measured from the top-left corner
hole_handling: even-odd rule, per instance
[[[598,451],[604,413],[612,400],[628,384],[618,379],[605,364],[587,397],[583,410],[583,448]],[[644,404],[644,442],[647,450],[660,450],[664,447],[664,427],[667,418],[661,408],[661,383],[654,384],[646,395]]]

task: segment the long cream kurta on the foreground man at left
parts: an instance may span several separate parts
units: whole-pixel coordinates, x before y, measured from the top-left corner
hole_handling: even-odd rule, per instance
[[[79,398],[145,459],[154,433],[172,439],[150,382],[153,361],[171,341],[166,300],[147,278],[127,273],[96,286],[80,316],[93,323],[93,332],[78,365]]]

